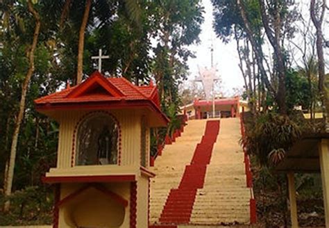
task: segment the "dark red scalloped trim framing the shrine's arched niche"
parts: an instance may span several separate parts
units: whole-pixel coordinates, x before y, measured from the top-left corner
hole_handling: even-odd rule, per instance
[[[121,125],[120,122],[117,120],[117,117],[113,115],[112,113],[109,113],[108,111],[92,111],[90,113],[87,113],[83,115],[83,117],[78,120],[78,123],[76,124],[76,127],[74,127],[74,132],[73,132],[73,144],[72,144],[72,154],[71,154],[71,167],[74,167],[75,163],[75,154],[76,154],[76,133],[78,132],[78,127],[80,126],[81,123],[83,123],[85,120],[88,118],[97,115],[99,113],[109,115],[112,117],[112,119],[115,121],[115,123],[118,126],[118,154],[117,154],[117,160],[118,160],[118,165],[121,165]]]

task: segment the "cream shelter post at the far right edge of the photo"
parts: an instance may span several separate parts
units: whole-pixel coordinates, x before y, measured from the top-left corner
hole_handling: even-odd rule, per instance
[[[329,227],[329,150],[328,139],[321,139],[319,142],[319,160],[321,167],[321,180],[323,190],[324,218],[326,227]]]

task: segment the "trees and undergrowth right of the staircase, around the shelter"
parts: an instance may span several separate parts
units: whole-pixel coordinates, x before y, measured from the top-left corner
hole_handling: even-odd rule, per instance
[[[217,36],[237,44],[250,108],[244,116],[243,144],[253,161],[260,225],[287,226],[287,179],[274,168],[304,133],[328,131],[322,33],[326,1],[312,0],[305,6],[285,0],[212,0],[212,4]],[[310,120],[302,111],[310,114]],[[317,121],[314,113],[319,112],[323,120]],[[296,182],[300,225],[323,225],[319,174],[296,175]]]

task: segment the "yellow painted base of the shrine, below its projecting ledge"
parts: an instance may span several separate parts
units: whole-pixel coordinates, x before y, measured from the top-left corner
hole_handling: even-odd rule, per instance
[[[137,177],[136,226],[148,227],[149,179]],[[88,184],[61,184],[60,199]],[[107,190],[128,201],[124,207],[95,188],[87,188],[59,206],[58,227],[130,227],[130,182],[102,183]]]

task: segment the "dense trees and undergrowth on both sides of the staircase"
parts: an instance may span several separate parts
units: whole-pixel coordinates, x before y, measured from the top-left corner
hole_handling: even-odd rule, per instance
[[[329,129],[326,1],[311,0],[307,13],[286,0],[212,5],[217,36],[237,45],[250,107],[244,143],[252,156],[261,224],[286,225],[286,179],[273,167],[304,132]],[[91,56],[102,49],[110,56],[103,61],[106,75],[157,84],[171,122],[153,129],[154,153],[165,134],[179,127],[180,102],[198,93],[186,90],[181,98],[178,86],[188,76],[188,47],[199,42],[202,13],[199,0],[0,1],[0,225],[51,223],[53,194],[40,177],[56,164],[58,124],[37,113],[33,100],[86,79],[96,67]],[[310,121],[297,106],[310,113]],[[317,112],[324,113],[320,122]],[[305,205],[302,223],[323,224],[321,216],[307,217],[323,211],[319,177],[296,179]]]

